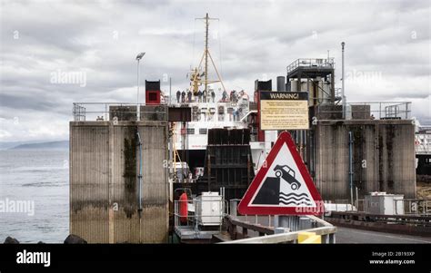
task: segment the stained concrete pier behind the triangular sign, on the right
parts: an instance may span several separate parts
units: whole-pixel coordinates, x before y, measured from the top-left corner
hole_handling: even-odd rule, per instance
[[[358,188],[358,198],[364,199],[370,191],[415,198],[415,125],[411,120],[317,122],[316,154],[310,160],[315,162],[315,182],[322,197],[350,199],[349,132],[353,134],[353,191]]]

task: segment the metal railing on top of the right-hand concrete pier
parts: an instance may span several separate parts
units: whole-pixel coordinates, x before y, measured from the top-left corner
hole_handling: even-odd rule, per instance
[[[409,120],[412,102],[348,102],[346,119],[351,120]],[[317,120],[337,120],[343,117],[342,105],[318,104]]]

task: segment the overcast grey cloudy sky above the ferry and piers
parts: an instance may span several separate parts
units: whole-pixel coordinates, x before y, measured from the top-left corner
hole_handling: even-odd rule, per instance
[[[141,79],[171,77],[173,90],[184,89],[203,49],[204,24],[195,18],[206,12],[220,19],[210,25],[210,50],[229,90],[252,93],[256,79],[275,86],[289,63],[328,51],[340,87],[345,41],[348,102],[413,102],[412,115],[431,124],[428,0],[1,5],[0,141],[67,139],[73,102],[135,102],[139,52]]]

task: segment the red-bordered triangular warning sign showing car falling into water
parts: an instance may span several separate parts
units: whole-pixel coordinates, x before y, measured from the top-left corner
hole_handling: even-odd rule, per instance
[[[282,132],[238,205],[239,213],[319,215],[324,204],[288,132]]]

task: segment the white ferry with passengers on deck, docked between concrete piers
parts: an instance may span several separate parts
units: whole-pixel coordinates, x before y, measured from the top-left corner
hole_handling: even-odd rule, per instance
[[[172,128],[173,180],[176,182],[194,182],[204,175],[208,131],[211,129],[249,130],[255,172],[265,160],[265,150],[270,149],[264,141],[258,141],[256,103],[250,102],[249,93],[226,89],[208,46],[212,18],[206,14],[201,19],[205,22],[205,48],[200,63],[187,73],[190,85],[173,92],[169,99],[170,106],[191,108],[191,121],[175,122]],[[210,78],[210,68],[216,78]]]

